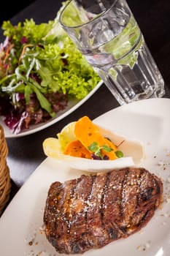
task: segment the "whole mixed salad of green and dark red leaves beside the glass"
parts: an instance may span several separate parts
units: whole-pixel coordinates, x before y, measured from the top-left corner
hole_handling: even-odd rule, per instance
[[[34,19],[1,26],[0,116],[18,134],[53,118],[69,99],[83,99],[101,80],[61,29],[58,14],[48,23]]]

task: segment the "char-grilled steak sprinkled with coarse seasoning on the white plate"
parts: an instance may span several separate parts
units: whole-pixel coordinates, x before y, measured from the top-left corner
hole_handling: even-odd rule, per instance
[[[56,181],[47,195],[45,234],[59,253],[101,248],[147,225],[162,200],[161,179],[142,167]]]

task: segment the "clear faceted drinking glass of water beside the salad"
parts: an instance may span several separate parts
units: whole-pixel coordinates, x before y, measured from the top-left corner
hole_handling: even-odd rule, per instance
[[[163,97],[161,72],[125,0],[72,0],[59,21],[120,105]]]

